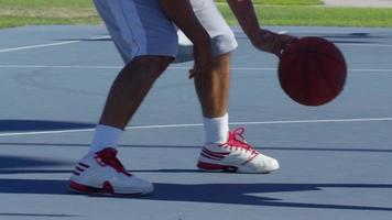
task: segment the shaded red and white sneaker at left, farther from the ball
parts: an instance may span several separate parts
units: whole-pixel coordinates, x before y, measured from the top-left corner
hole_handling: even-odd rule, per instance
[[[119,196],[142,196],[154,189],[149,182],[127,172],[115,148],[105,148],[81,158],[70,176],[69,187],[83,194]]]

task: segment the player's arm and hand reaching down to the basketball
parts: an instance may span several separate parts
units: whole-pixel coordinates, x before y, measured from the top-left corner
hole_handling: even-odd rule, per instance
[[[280,56],[283,50],[296,40],[291,35],[261,29],[251,0],[227,0],[227,2],[254,47]]]

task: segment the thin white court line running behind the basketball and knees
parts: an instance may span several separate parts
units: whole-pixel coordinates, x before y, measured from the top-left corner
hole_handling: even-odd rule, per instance
[[[80,68],[80,69],[121,69],[122,66],[85,66],[85,65],[0,65],[0,68]],[[168,69],[189,69],[190,66],[171,66]],[[270,70],[274,72],[276,68],[273,67],[231,67],[232,70],[248,70],[248,72],[259,72],[259,70]],[[377,69],[377,68],[351,68],[349,72],[378,72],[378,73],[392,73],[391,69]]]

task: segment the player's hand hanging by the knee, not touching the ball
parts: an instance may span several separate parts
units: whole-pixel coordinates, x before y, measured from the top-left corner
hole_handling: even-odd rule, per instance
[[[194,46],[194,67],[189,70],[189,78],[210,72],[213,67],[211,46]]]

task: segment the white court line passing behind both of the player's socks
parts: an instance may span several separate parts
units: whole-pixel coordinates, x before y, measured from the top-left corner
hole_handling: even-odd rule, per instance
[[[231,122],[229,124],[231,124],[231,125],[250,125],[250,124],[337,123],[337,122],[374,122],[374,121],[392,121],[392,118],[322,119],[322,120],[292,120],[292,121],[248,121],[248,122]],[[203,127],[203,124],[202,123],[189,123],[189,124],[140,125],[140,127],[127,127],[126,130],[189,128],[189,127]],[[92,132],[92,131],[95,131],[95,129],[74,129],[74,130],[59,130],[59,131],[18,132],[18,133],[0,133],[0,136],[61,134],[61,133],[77,133],[77,132]]]

